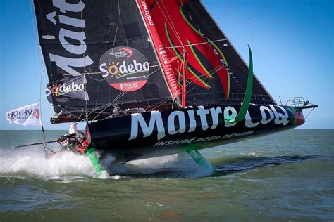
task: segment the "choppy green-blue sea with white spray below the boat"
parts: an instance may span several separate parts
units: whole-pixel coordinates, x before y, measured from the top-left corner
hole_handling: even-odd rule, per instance
[[[54,140],[63,131],[47,131]],[[334,130],[290,130],[187,155],[113,164],[45,159],[40,131],[0,131],[0,221],[333,221]],[[57,144],[51,144],[57,149]]]

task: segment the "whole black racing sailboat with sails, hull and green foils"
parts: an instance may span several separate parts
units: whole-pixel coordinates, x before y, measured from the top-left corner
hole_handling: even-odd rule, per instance
[[[84,153],[126,162],[188,152],[205,165],[198,150],[292,129],[316,107],[278,105],[251,49],[247,65],[199,0],[34,5],[51,123],[86,122]]]

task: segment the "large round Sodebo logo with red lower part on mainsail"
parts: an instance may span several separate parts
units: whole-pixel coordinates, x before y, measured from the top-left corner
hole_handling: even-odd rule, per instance
[[[147,59],[130,47],[111,48],[100,59],[102,77],[120,91],[136,91],[142,88],[149,77]]]

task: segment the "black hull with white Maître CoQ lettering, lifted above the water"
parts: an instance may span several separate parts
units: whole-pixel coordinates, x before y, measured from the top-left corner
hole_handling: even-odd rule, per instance
[[[211,148],[304,123],[302,110],[278,105],[249,105],[245,118],[234,122],[240,107],[188,107],[93,122],[90,146],[129,161]]]

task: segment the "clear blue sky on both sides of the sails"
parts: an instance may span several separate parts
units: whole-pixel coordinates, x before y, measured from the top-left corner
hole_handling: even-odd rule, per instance
[[[334,129],[334,1],[202,3],[246,61],[251,46],[254,73],[276,102],[278,96],[283,101],[302,96],[319,106],[299,129]],[[0,129],[39,129],[6,122],[9,110],[39,101],[44,67],[35,24],[30,0],[0,0]],[[45,73],[42,79],[44,89]],[[53,114],[43,92],[44,128],[68,129],[68,124],[50,124]]]

